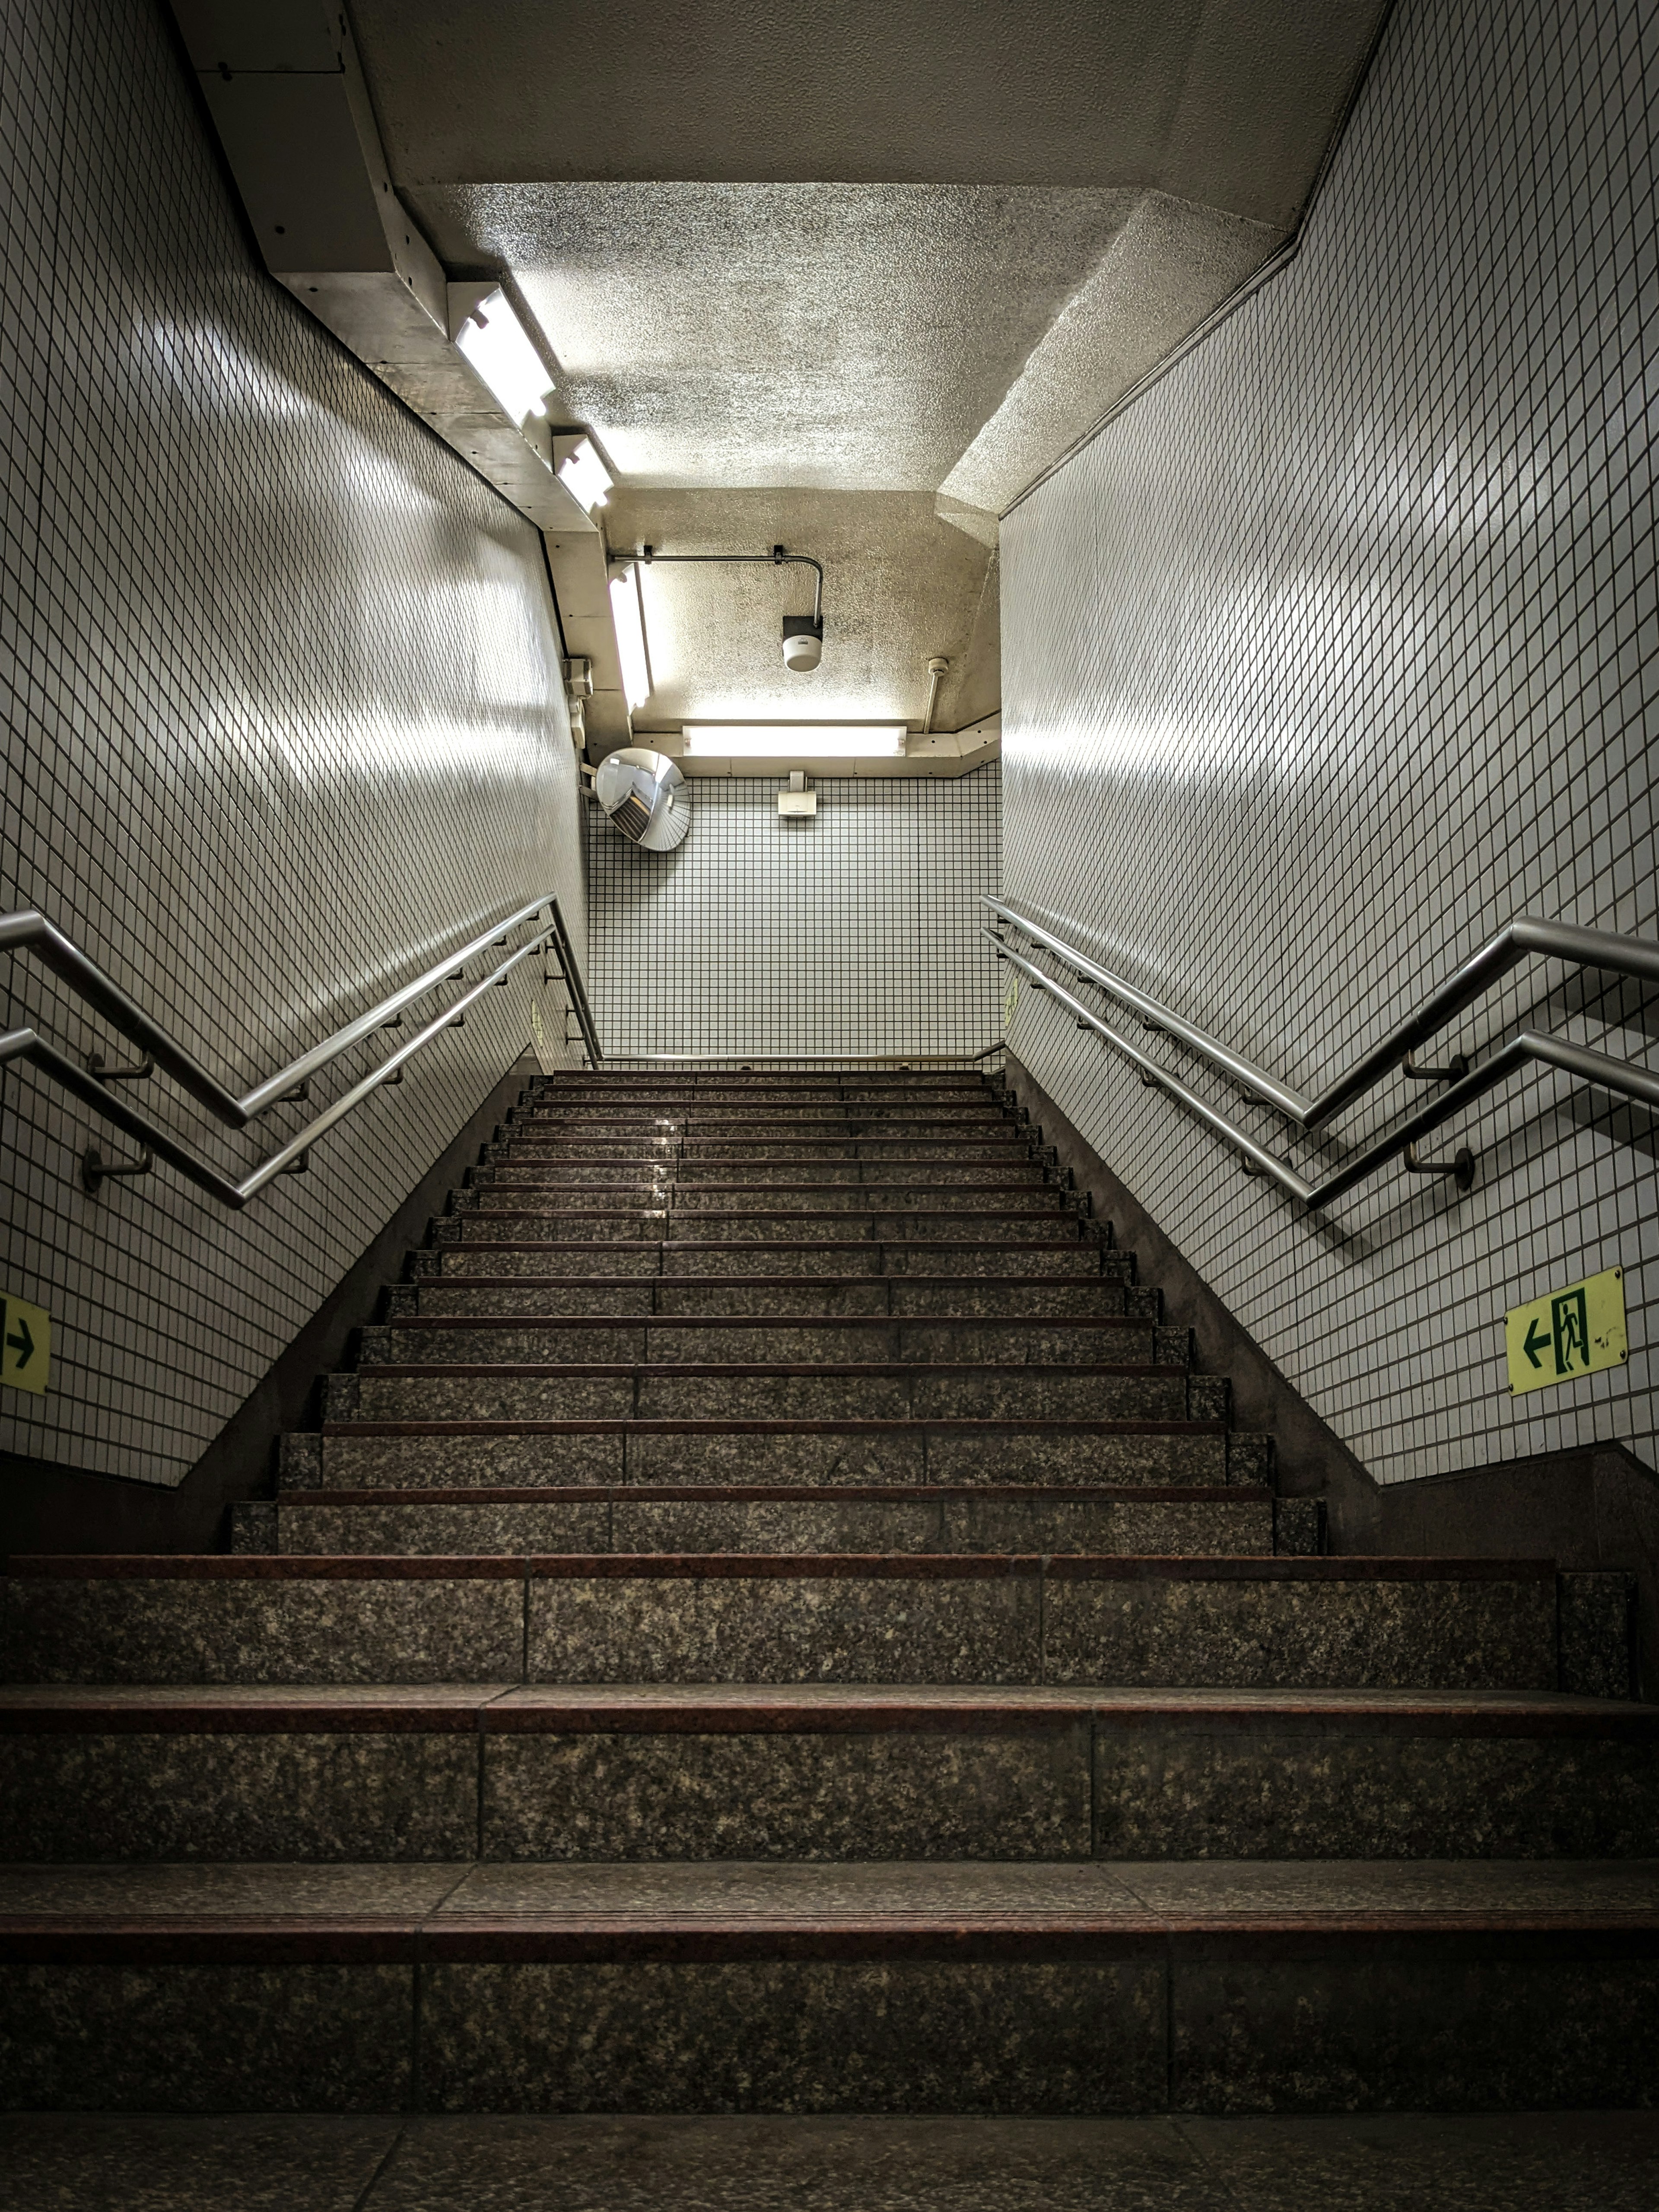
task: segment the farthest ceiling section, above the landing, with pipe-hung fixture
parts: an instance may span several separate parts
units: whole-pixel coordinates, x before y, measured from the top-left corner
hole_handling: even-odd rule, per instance
[[[958,726],[989,553],[920,491],[630,491],[613,551],[765,553],[823,562],[823,664],[790,675],[783,615],[812,613],[810,568],[644,568],[650,703],[639,728],[692,721],[916,721],[927,661],[951,661],[938,726]],[[991,701],[995,703],[995,699]]]

